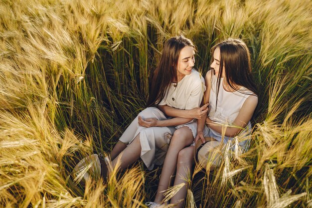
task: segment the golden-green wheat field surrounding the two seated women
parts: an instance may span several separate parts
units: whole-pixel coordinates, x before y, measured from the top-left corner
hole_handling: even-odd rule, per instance
[[[85,186],[71,173],[145,107],[178,34],[202,74],[212,45],[243,39],[260,94],[250,150],[195,166],[185,207],[312,208],[311,0],[0,0],[0,207],[146,207],[161,167]]]

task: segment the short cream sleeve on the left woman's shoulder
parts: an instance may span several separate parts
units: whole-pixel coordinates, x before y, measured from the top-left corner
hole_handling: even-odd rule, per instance
[[[198,81],[194,83],[194,88],[186,101],[185,110],[190,110],[200,106],[204,91],[206,90],[205,80],[201,75],[200,77],[201,80],[198,79]]]

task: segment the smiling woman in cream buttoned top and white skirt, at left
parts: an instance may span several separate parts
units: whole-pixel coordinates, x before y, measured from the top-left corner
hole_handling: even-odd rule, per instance
[[[187,136],[195,138],[196,126],[191,125],[195,119],[178,117],[174,113],[168,116],[160,110],[164,106],[189,110],[189,114],[197,118],[207,113],[206,106],[199,108],[205,84],[204,78],[193,69],[194,55],[194,44],[183,35],[171,37],[165,42],[158,66],[152,73],[148,108],[139,113],[113,148],[110,154],[113,167],[120,161],[120,168],[126,169],[141,158],[152,170],[155,164],[162,165],[171,135],[176,137],[173,134],[175,129],[186,128],[190,133]],[[101,172],[105,180],[108,157],[89,156],[76,166],[75,171],[78,173],[83,169],[83,162],[94,160],[95,166],[101,164],[98,168],[101,171],[97,172]],[[85,176],[86,180],[89,175]]]

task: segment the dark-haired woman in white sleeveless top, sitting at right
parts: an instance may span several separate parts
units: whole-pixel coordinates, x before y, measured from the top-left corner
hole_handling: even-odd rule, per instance
[[[203,99],[209,102],[208,116],[205,114],[191,124],[197,126],[195,142],[205,143],[205,138],[212,138],[205,144],[206,151],[224,146],[235,136],[248,135],[251,132],[250,120],[258,104],[257,89],[251,73],[250,53],[246,44],[240,39],[229,38],[213,46],[211,52],[211,70],[205,76],[207,90]],[[177,117],[189,118],[185,110],[172,109],[168,106],[164,109],[169,116],[174,113]],[[180,128],[174,132],[174,135],[184,134],[182,131],[183,128]],[[189,136],[184,140],[191,141],[192,139]],[[187,179],[190,177],[190,170],[194,163],[194,146],[183,147],[183,145],[179,146],[179,143],[181,141],[171,139],[155,202],[147,203],[150,208],[160,207],[163,203],[163,191],[168,189],[175,168],[174,185],[184,183],[185,186],[171,198],[170,203],[176,204],[177,207],[183,206],[188,187]],[[239,144],[242,148],[246,148],[247,140]],[[205,153],[205,155],[209,154],[209,152]],[[213,159],[210,157],[210,160]],[[211,162],[214,161],[208,161],[208,163]],[[202,165],[207,168],[205,166],[207,164]],[[210,164],[209,167],[212,170],[215,166]]]

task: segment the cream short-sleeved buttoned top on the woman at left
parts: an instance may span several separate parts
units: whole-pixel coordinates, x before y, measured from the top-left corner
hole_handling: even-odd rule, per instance
[[[192,69],[178,83],[171,83],[167,93],[158,105],[167,105],[173,108],[190,110],[200,106],[204,91],[205,80],[201,74]]]

